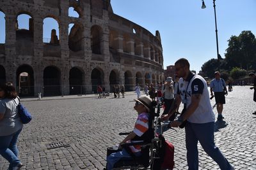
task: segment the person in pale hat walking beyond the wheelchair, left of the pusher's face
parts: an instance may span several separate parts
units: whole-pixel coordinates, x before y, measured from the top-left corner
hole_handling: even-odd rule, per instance
[[[166,115],[169,113],[172,103],[174,101],[173,85],[172,84],[173,84],[172,77],[166,78],[166,81],[161,90],[162,96],[164,99],[164,106],[165,106],[163,115]],[[174,118],[175,118],[175,114],[173,114],[172,117],[170,117],[170,120],[173,121]]]

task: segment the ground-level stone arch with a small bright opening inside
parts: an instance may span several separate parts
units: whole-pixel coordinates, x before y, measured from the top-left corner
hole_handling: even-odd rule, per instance
[[[19,96],[28,97],[34,94],[34,71],[28,64],[22,64],[16,71],[16,85]]]

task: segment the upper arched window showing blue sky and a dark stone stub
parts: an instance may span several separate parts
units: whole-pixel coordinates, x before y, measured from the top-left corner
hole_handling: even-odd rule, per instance
[[[52,18],[44,18],[43,25],[43,41],[44,43],[50,43],[54,45],[59,45],[59,24]]]

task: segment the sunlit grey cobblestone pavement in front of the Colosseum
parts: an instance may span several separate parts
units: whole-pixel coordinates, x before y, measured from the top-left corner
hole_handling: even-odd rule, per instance
[[[19,138],[22,169],[103,169],[106,148],[123,139],[118,132],[132,130],[135,97],[23,101],[33,121],[24,126]],[[252,115],[256,104],[252,98],[249,87],[234,87],[226,98],[225,121],[216,122],[216,145],[235,169],[256,169],[256,116]],[[184,129],[169,130],[164,136],[175,146],[175,169],[188,169]],[[60,141],[68,145],[47,149],[47,144]],[[198,149],[200,169],[219,169],[200,144]],[[0,156],[0,169],[7,167]]]

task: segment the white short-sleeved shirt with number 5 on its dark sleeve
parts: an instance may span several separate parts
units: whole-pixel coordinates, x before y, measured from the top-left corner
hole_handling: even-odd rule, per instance
[[[191,73],[188,76],[188,80],[180,78],[177,94],[180,95],[182,101],[185,101],[186,95],[187,108],[191,104],[191,97],[193,94],[202,94],[198,108],[196,108],[195,112],[188,118],[188,122],[205,124],[215,121],[214,112],[212,111],[209,92],[207,89],[207,83],[202,76]]]

